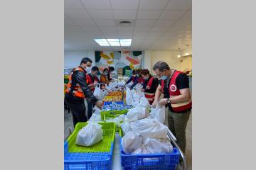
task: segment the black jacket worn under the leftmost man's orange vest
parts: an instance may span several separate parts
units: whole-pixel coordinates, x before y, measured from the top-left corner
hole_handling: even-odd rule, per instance
[[[75,84],[79,84],[83,93],[85,94],[86,98],[89,101],[92,101],[92,103],[97,102],[97,98],[93,96],[92,91],[90,91],[90,88],[86,82],[86,71],[82,67],[80,67],[84,72],[73,72],[72,75],[72,84],[71,84],[71,91],[72,87],[75,86]]]

